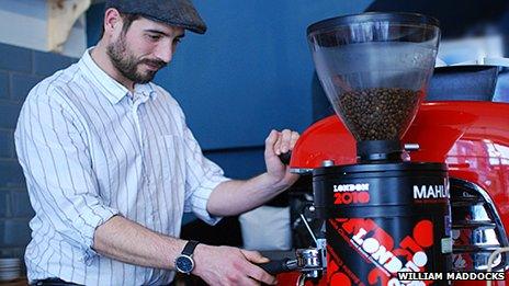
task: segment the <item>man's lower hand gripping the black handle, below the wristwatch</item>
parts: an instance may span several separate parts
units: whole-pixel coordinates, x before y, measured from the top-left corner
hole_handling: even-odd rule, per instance
[[[274,285],[276,282],[274,276],[253,264],[269,262],[256,251],[197,244],[193,258],[193,274],[208,285]]]

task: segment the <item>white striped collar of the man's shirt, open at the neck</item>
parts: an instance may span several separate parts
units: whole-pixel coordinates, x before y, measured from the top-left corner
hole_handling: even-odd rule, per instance
[[[94,47],[90,47],[84,52],[79,61],[79,66],[83,73],[93,81],[94,85],[101,91],[101,93],[104,94],[111,103],[116,104],[129,94],[129,90],[113,79],[110,75],[102,70],[95,61],[93,61],[90,56],[93,48]],[[151,87],[151,83],[136,83],[134,92],[147,98],[155,98],[157,94]]]

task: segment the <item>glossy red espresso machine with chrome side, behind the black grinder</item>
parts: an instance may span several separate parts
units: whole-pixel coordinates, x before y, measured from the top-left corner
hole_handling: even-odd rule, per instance
[[[486,271],[489,255],[509,247],[506,232],[509,227],[509,104],[422,103],[401,141],[409,149],[405,153],[410,161],[442,161],[448,165],[453,239],[451,271]],[[302,134],[291,165],[306,173],[331,160],[336,164],[357,162],[355,140],[337,116],[324,118]],[[493,270],[507,271],[508,263],[507,254],[502,253],[495,260]],[[325,264],[319,285],[355,285],[339,274],[336,266]],[[299,274],[280,274],[280,285],[295,285]],[[343,281],[338,283],[338,278]],[[470,286],[486,285],[486,282],[454,281],[452,284]],[[494,282],[494,285],[509,285],[509,281]]]

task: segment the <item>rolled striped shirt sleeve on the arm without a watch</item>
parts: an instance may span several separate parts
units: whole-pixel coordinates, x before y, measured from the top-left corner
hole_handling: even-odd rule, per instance
[[[184,122],[183,142],[186,159],[184,211],[193,211],[196,217],[208,225],[216,225],[220,217],[212,216],[206,209],[206,204],[214,188],[230,179],[224,176],[223,170],[216,163],[203,156],[199,142],[185,126],[183,114],[182,119]]]

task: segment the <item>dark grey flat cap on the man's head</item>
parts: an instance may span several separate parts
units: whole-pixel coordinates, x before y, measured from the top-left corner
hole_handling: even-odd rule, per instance
[[[105,8],[115,8],[121,13],[140,14],[199,34],[206,31],[205,22],[190,0],[108,0]]]

